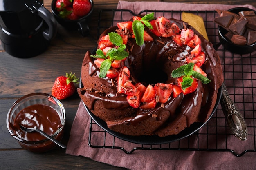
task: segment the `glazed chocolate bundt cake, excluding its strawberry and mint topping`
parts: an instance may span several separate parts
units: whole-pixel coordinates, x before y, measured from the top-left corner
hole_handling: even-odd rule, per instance
[[[198,88],[190,94],[180,93],[176,98],[170,97],[164,107],[160,104],[150,110],[132,108],[126,100],[126,95],[117,93],[116,82],[110,78],[99,78],[99,68],[93,63],[90,52],[85,54],[81,82],[83,88],[78,88],[79,96],[85,105],[100,117],[111,130],[126,135],[158,135],[160,137],[177,134],[194,122],[205,122],[209,118],[223,82],[220,59],[212,44],[202,37],[187,23],[170,19],[182,29],[192,29],[201,39],[202,51],[205,53],[205,62],[201,66],[207,73],[209,84],[202,84],[198,80]],[[115,32],[117,27],[111,27],[101,35]],[[129,38],[128,49],[130,55],[124,65],[130,70],[132,82],[142,84],[173,83],[177,79],[171,77],[174,69],[185,64],[190,47],[179,46],[172,38],[158,37],[145,30],[154,41],[144,42],[138,46],[135,39]],[[100,38],[99,38],[100,40]]]

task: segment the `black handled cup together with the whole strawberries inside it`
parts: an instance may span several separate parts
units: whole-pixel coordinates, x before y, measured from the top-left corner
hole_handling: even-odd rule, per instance
[[[82,36],[89,35],[92,0],[53,0],[51,9],[57,22],[63,27],[68,30],[77,29]]]

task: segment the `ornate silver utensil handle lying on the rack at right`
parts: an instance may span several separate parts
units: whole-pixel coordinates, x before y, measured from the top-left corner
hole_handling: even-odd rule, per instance
[[[229,128],[238,139],[245,141],[247,139],[247,125],[245,119],[242,117],[234,101],[230,98],[225,83],[222,84],[221,98],[222,110]]]

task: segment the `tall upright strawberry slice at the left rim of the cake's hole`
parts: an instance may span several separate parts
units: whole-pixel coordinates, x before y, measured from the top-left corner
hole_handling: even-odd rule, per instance
[[[124,89],[122,86],[124,86],[125,82],[130,79],[130,70],[124,66],[124,68],[121,70],[117,77],[117,91],[118,93],[124,93]]]

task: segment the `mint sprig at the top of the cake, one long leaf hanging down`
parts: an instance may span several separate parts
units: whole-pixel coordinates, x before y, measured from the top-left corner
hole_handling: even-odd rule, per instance
[[[136,44],[141,46],[144,43],[144,29],[146,25],[148,28],[153,29],[150,24],[150,20],[154,19],[154,13],[144,15],[141,20],[135,20],[132,22],[132,30],[135,36]],[[142,24],[143,22],[143,24]]]

